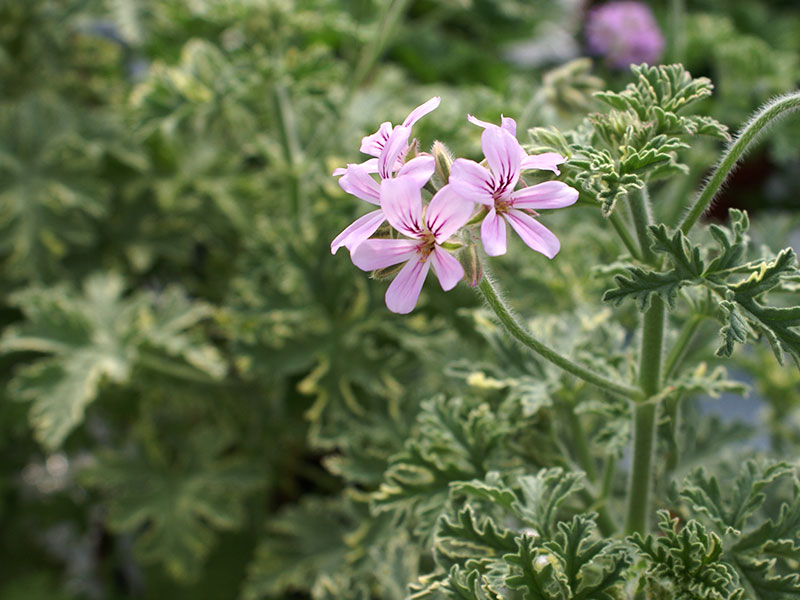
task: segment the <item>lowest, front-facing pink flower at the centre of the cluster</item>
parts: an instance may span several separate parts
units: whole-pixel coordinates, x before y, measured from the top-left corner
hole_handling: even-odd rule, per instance
[[[389,310],[406,314],[417,305],[431,266],[445,291],[464,276],[461,264],[442,244],[469,220],[472,204],[457,199],[453,189],[444,186],[423,211],[420,188],[402,176],[381,182],[381,200],[392,227],[411,239],[366,240],[353,250],[352,259],[364,271],[406,263],[386,290]]]

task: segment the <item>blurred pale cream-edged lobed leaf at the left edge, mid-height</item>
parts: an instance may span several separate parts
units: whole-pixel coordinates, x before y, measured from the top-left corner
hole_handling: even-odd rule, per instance
[[[174,357],[198,376],[225,373],[217,350],[188,331],[211,315],[208,306],[177,288],[129,298],[123,292],[119,276],[96,275],[81,295],[62,286],[12,297],[27,320],[6,329],[0,350],[45,355],[18,369],[11,392],[32,403],[31,425],[49,449],[83,422],[105,380],[127,383],[138,365],[169,368],[163,361]]]

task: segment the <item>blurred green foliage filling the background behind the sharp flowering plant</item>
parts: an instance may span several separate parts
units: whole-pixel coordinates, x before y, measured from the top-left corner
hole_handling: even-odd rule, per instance
[[[0,598],[403,598],[433,567],[450,482],[569,467],[554,399],[577,384],[509,344],[467,286],[388,313],[383,286],[330,255],[358,209],[330,173],[437,94],[423,148],[477,155],[467,113],[575,126],[629,80],[569,62],[588,9],[0,0]],[[712,79],[703,112],[732,130],[797,87],[793,2],[653,9],[664,60]],[[797,246],[796,214],[775,211],[796,210],[799,135],[772,134],[721,203],[766,244]],[[687,152],[690,184],[719,147]],[[678,214],[691,189],[657,193]],[[550,218],[559,261],[511,252],[496,274],[532,326],[624,370],[626,332],[587,276],[617,243],[594,208]],[[757,433],[796,455],[797,372],[766,348],[738,359]],[[592,416],[591,393],[570,394],[590,450],[618,455],[625,407]],[[717,426],[695,432],[703,456],[728,439]]]

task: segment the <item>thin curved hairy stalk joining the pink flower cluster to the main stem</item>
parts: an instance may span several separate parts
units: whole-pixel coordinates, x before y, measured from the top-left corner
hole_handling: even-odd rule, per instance
[[[478,289],[483,294],[486,303],[497,315],[497,318],[500,320],[500,322],[505,326],[506,330],[508,330],[512,336],[517,338],[528,348],[539,354],[542,358],[550,361],[568,373],[571,373],[572,375],[575,375],[576,377],[583,379],[588,383],[596,385],[597,387],[614,392],[615,394],[619,394],[625,398],[641,398],[641,392],[639,392],[639,390],[636,388],[604,377],[599,373],[595,373],[594,371],[572,361],[566,356],[559,354],[546,344],[543,344],[533,337],[529,331],[527,331],[517,322],[517,320],[511,314],[509,308],[506,306],[505,302],[503,302],[498,296],[497,290],[488,277],[484,276],[480,284],[478,284]]]

